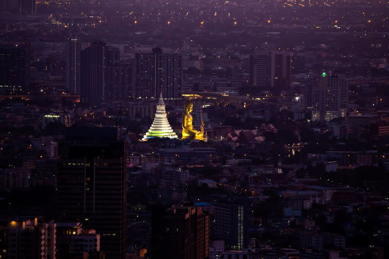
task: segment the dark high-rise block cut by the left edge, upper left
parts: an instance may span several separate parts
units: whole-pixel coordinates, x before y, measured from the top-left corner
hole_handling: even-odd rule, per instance
[[[17,91],[30,84],[30,53],[24,46],[0,47],[0,91]],[[3,89],[1,89],[3,88]]]

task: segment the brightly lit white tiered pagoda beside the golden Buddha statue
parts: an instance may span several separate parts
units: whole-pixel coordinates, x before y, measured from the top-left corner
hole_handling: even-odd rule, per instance
[[[143,136],[142,140],[145,141],[149,138],[178,138],[167,120],[162,93],[159,96],[159,102],[157,104],[157,111],[155,113],[153,124],[151,124],[149,131]]]

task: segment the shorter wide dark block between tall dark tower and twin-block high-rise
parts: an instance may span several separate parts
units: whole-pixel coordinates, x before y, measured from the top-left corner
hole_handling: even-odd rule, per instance
[[[131,76],[130,65],[117,65],[108,67],[109,100],[118,101],[131,98]]]

